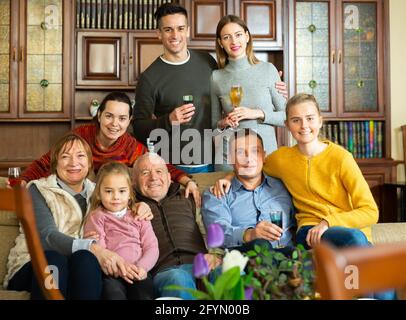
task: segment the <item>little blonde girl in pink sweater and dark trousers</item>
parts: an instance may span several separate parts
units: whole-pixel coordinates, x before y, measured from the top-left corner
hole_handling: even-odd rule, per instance
[[[131,214],[129,208],[134,201],[128,168],[118,162],[103,165],[97,175],[84,233],[94,235],[102,247],[117,253],[126,263],[125,273],[114,273],[114,261],[104,266],[114,277],[104,276],[103,299],[153,299],[148,271],[158,260],[158,240],[150,221],[138,220]]]

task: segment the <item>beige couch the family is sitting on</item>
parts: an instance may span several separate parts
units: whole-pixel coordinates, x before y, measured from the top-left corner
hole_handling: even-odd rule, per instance
[[[201,190],[212,185],[224,173],[206,173],[197,174],[194,179],[199,184]],[[0,188],[4,187],[4,178],[0,177]],[[3,279],[6,273],[6,263],[10,248],[14,245],[14,239],[18,233],[18,221],[14,214],[0,214],[0,300],[5,299],[29,299],[27,292],[7,291],[2,287]],[[406,223],[383,223],[373,226],[373,243],[385,243],[406,241]]]

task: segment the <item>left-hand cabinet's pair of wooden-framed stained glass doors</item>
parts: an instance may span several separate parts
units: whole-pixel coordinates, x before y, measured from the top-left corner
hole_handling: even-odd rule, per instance
[[[0,118],[69,119],[71,2],[0,3]]]

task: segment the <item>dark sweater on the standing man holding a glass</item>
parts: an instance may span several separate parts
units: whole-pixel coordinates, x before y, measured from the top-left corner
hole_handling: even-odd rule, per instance
[[[184,130],[196,129],[203,138],[204,129],[211,128],[210,76],[212,70],[217,67],[216,61],[207,52],[195,50],[189,50],[189,52],[190,58],[185,63],[170,64],[158,57],[142,73],[135,95],[134,135],[139,141],[146,141],[152,130],[164,129],[161,130],[161,133],[168,133],[168,137],[171,138],[169,139],[169,154],[160,152],[165,161],[173,164],[211,163],[211,157],[204,158],[208,153],[204,154],[203,143],[200,148],[197,143],[193,144],[200,152],[200,154],[193,153],[193,163],[183,163],[184,159],[180,157],[181,150],[185,146],[190,147],[191,141],[195,142],[194,137],[190,137],[186,133],[182,135]],[[175,108],[183,105],[182,97],[184,95],[193,95],[195,114],[190,124],[177,127],[180,132],[172,131],[169,114]],[[156,131],[156,133],[159,132]],[[155,140],[153,135],[151,138]],[[168,156],[169,159],[167,159]]]

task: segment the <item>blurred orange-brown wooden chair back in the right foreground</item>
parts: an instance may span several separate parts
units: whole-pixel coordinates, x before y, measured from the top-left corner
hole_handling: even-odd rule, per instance
[[[347,300],[362,294],[406,288],[406,243],[314,249],[316,290],[325,300]]]

